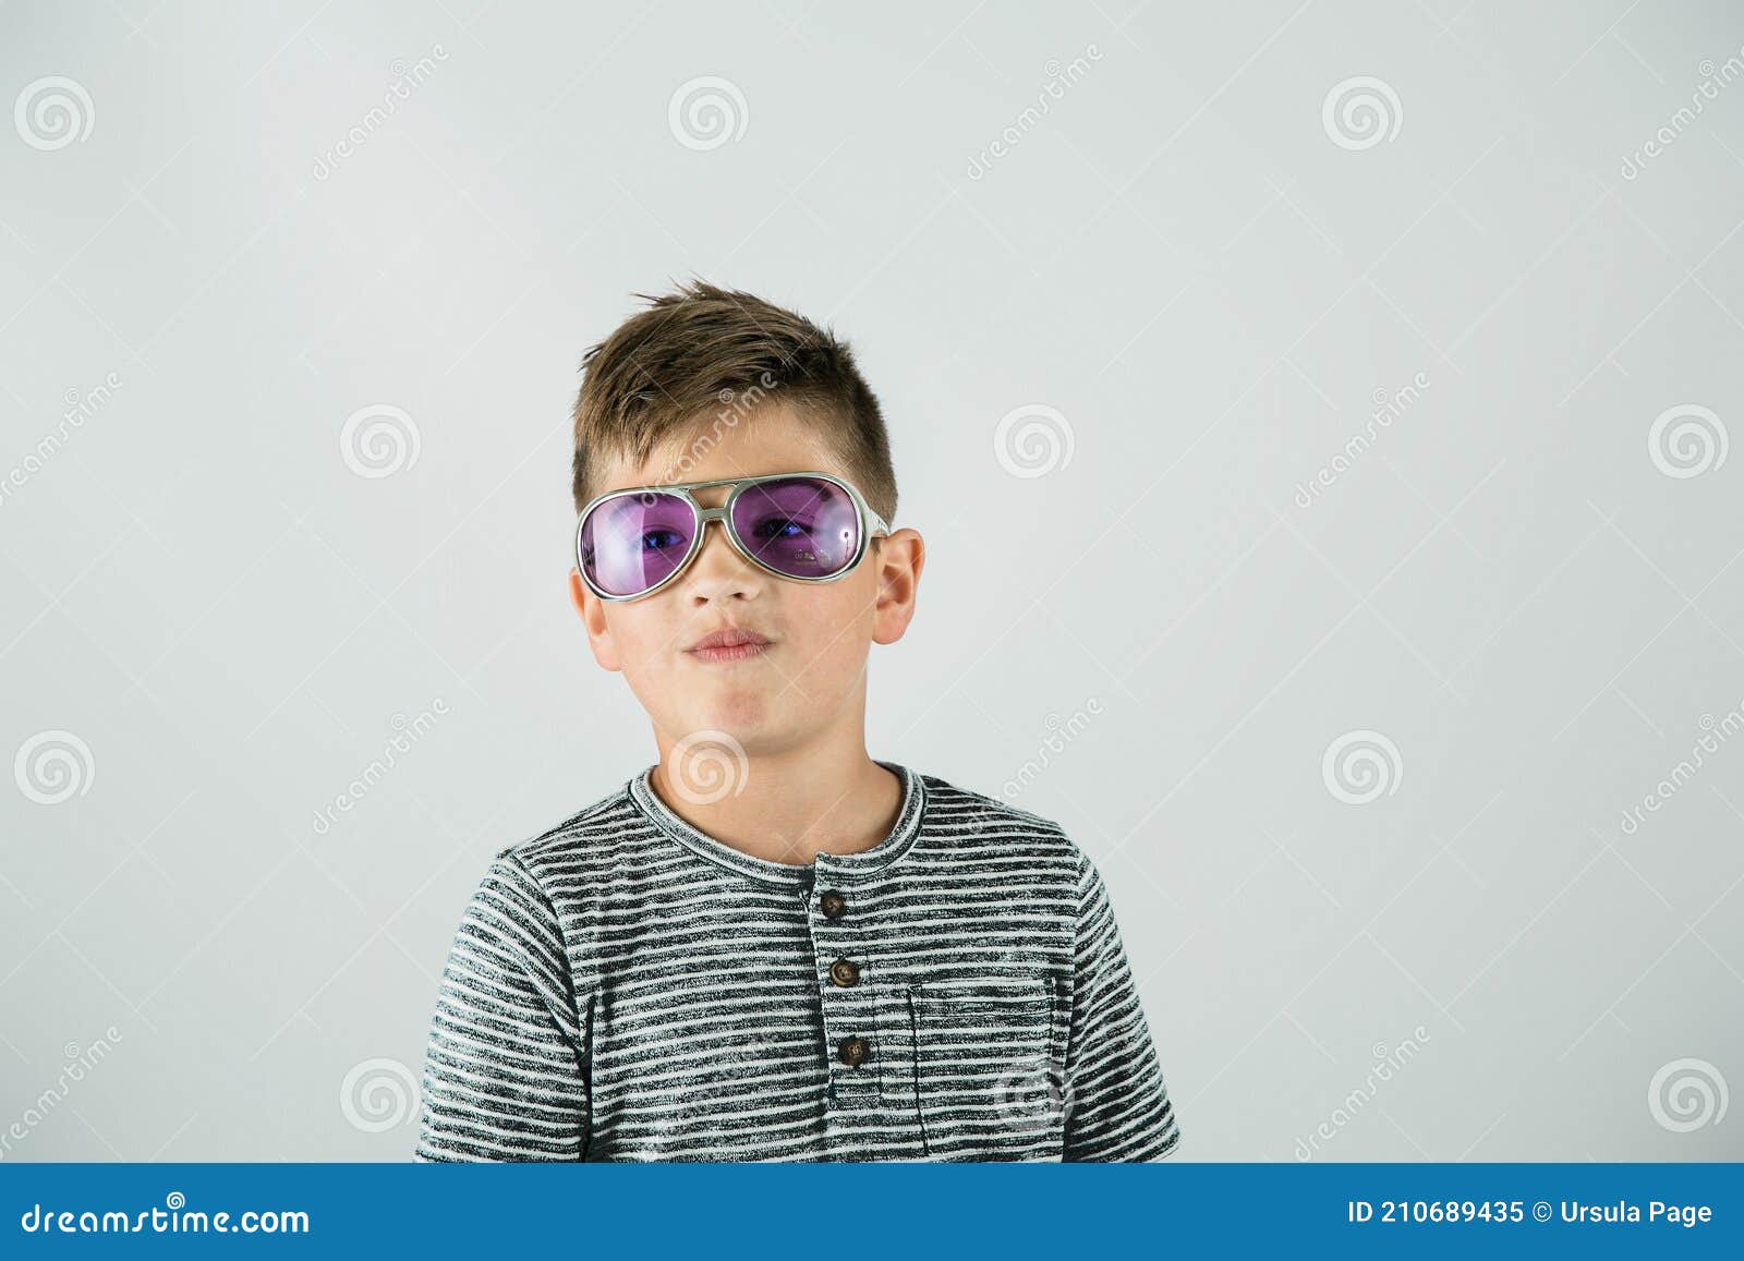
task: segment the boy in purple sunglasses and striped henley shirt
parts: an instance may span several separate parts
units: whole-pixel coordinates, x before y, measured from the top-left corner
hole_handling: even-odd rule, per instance
[[[495,853],[417,1158],[1174,1153],[1095,865],[867,755],[926,553],[849,349],[748,293],[654,298],[584,358],[574,497],[570,598],[659,760]]]

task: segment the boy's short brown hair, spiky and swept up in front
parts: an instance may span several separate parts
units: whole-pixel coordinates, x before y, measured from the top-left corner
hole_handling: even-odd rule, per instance
[[[689,281],[649,302],[581,361],[576,396],[576,466],[570,490],[581,511],[602,459],[644,462],[670,438],[694,434],[706,450],[767,399],[806,408],[867,504],[896,520],[896,473],[877,396],[846,342],[750,293]],[[680,457],[661,481],[684,481]]]

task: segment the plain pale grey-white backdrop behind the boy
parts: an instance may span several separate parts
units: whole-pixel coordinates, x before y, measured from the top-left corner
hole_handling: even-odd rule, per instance
[[[1741,45],[7,3],[0,1156],[408,1158],[488,855],[654,760],[567,408],[692,274],[856,347],[870,752],[1097,860],[1182,1158],[1744,1156]]]

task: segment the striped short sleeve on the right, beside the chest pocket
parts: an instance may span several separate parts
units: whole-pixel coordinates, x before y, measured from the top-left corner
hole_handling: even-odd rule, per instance
[[[1174,1155],[1181,1130],[1107,888],[1095,863],[1081,862],[1062,1158],[1160,1160]]]

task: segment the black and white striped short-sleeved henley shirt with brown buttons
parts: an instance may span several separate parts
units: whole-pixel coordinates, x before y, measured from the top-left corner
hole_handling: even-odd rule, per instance
[[[1179,1128],[1097,867],[931,774],[778,863],[652,766],[499,849],[429,1027],[417,1160],[1158,1160]]]

